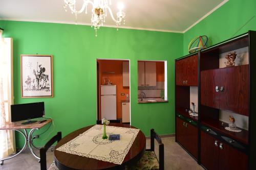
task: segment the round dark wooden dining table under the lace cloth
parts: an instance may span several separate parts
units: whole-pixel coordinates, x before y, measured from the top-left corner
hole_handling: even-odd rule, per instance
[[[69,142],[70,140],[77,137],[79,134],[89,130],[94,125],[78,129],[67,136],[63,137],[56,145],[54,150],[54,161],[59,170],[85,170],[85,169],[124,169],[125,165],[131,165],[136,163],[144,154],[146,148],[146,138],[143,132],[139,131],[136,136],[129,152],[125,156],[121,165],[97,160],[94,158],[88,158],[75,154],[69,154],[56,150],[61,145]],[[124,127],[124,128],[135,128],[128,124],[116,124],[111,123],[109,126]],[[137,128],[135,128],[137,129]]]

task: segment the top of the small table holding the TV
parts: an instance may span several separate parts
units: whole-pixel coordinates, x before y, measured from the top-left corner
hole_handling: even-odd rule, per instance
[[[40,119],[41,120],[41,119]],[[19,122],[12,122],[9,124],[6,124],[6,126],[0,127],[0,130],[12,130],[12,129],[40,129],[44,127],[45,125],[49,124],[52,122],[52,119],[46,119],[45,122],[39,124],[38,122],[32,123],[32,124],[27,124],[23,125],[24,121],[19,121]]]

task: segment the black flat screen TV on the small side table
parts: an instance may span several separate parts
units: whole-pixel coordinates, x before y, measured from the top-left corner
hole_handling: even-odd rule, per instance
[[[45,103],[27,103],[11,105],[11,120],[17,122],[20,120],[28,120],[23,124],[34,123],[36,121],[30,121],[30,119],[42,117],[45,114]]]

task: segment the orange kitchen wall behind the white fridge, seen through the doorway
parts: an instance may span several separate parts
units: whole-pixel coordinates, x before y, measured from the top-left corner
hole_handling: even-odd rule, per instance
[[[122,105],[121,101],[126,100],[126,94],[129,94],[130,87],[123,87],[123,61],[121,60],[97,60],[99,63],[99,85],[104,85],[104,78],[109,78],[117,89],[117,118],[122,118]],[[106,74],[104,72],[115,72],[114,74]],[[124,93],[124,95],[121,95]],[[100,90],[99,90],[100,99]],[[99,100],[100,101],[100,100]],[[100,108],[100,105],[99,105]],[[99,109],[100,113],[100,109]]]

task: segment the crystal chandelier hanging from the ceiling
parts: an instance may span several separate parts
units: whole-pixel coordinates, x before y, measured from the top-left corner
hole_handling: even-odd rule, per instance
[[[107,11],[109,11],[109,14],[111,18],[116,22],[116,27],[118,30],[118,25],[121,24],[122,19],[125,17],[125,13],[123,10],[123,5],[121,3],[118,4],[119,11],[116,14],[116,19],[113,16],[112,10],[110,8],[111,6],[111,0],[83,0],[83,5],[81,9],[78,11],[76,9],[76,0],[64,0],[65,5],[64,9],[67,12],[67,7],[69,6],[71,13],[75,14],[76,20],[77,20],[77,14],[82,13],[84,10],[86,10],[87,14],[87,7],[89,4],[93,6],[92,8],[92,18],[91,23],[92,27],[94,27],[95,30],[95,36],[97,36],[97,30],[103,26],[103,23],[105,22],[105,17],[107,16]],[[125,23],[125,20],[123,20],[123,24]]]

